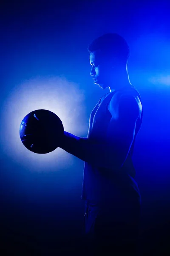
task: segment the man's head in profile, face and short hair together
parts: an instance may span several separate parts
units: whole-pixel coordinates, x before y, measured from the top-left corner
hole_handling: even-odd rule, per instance
[[[108,33],[95,39],[89,46],[91,76],[102,89],[110,86],[116,76],[126,71],[130,50],[118,34]]]

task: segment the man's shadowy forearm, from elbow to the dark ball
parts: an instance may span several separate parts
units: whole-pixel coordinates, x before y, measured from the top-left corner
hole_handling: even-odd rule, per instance
[[[68,132],[64,132],[60,148],[79,159],[91,163],[97,167],[116,168],[118,156],[116,151],[113,154],[113,148],[109,148],[104,143],[91,143],[88,139],[77,137]]]

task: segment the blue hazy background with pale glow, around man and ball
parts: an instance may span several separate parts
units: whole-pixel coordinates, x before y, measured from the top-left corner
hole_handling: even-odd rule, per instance
[[[6,253],[10,247],[50,255],[60,240],[81,233],[83,162],[61,149],[33,156],[20,142],[19,125],[27,113],[46,108],[60,113],[65,131],[87,136],[91,110],[108,92],[93,84],[87,46],[106,32],[130,45],[130,81],[143,102],[133,157],[142,195],[141,255],[170,250],[168,13],[168,1],[2,2],[0,233]]]

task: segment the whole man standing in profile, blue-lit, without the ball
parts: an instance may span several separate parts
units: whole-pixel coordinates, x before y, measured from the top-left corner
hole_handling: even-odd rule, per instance
[[[82,199],[90,255],[135,255],[141,197],[132,154],[142,124],[141,99],[129,80],[130,52],[121,36],[105,34],[88,51],[94,84],[109,93],[91,112],[88,137],[65,132],[59,147],[85,161]]]

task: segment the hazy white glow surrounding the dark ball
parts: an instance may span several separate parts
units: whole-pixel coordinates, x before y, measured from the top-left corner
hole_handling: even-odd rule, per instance
[[[65,131],[87,134],[84,93],[78,84],[64,77],[35,78],[10,91],[1,113],[0,139],[3,152],[30,171],[52,171],[71,166],[74,157],[60,148],[48,154],[35,154],[24,147],[19,136],[22,119],[36,109],[47,109],[59,116]]]

